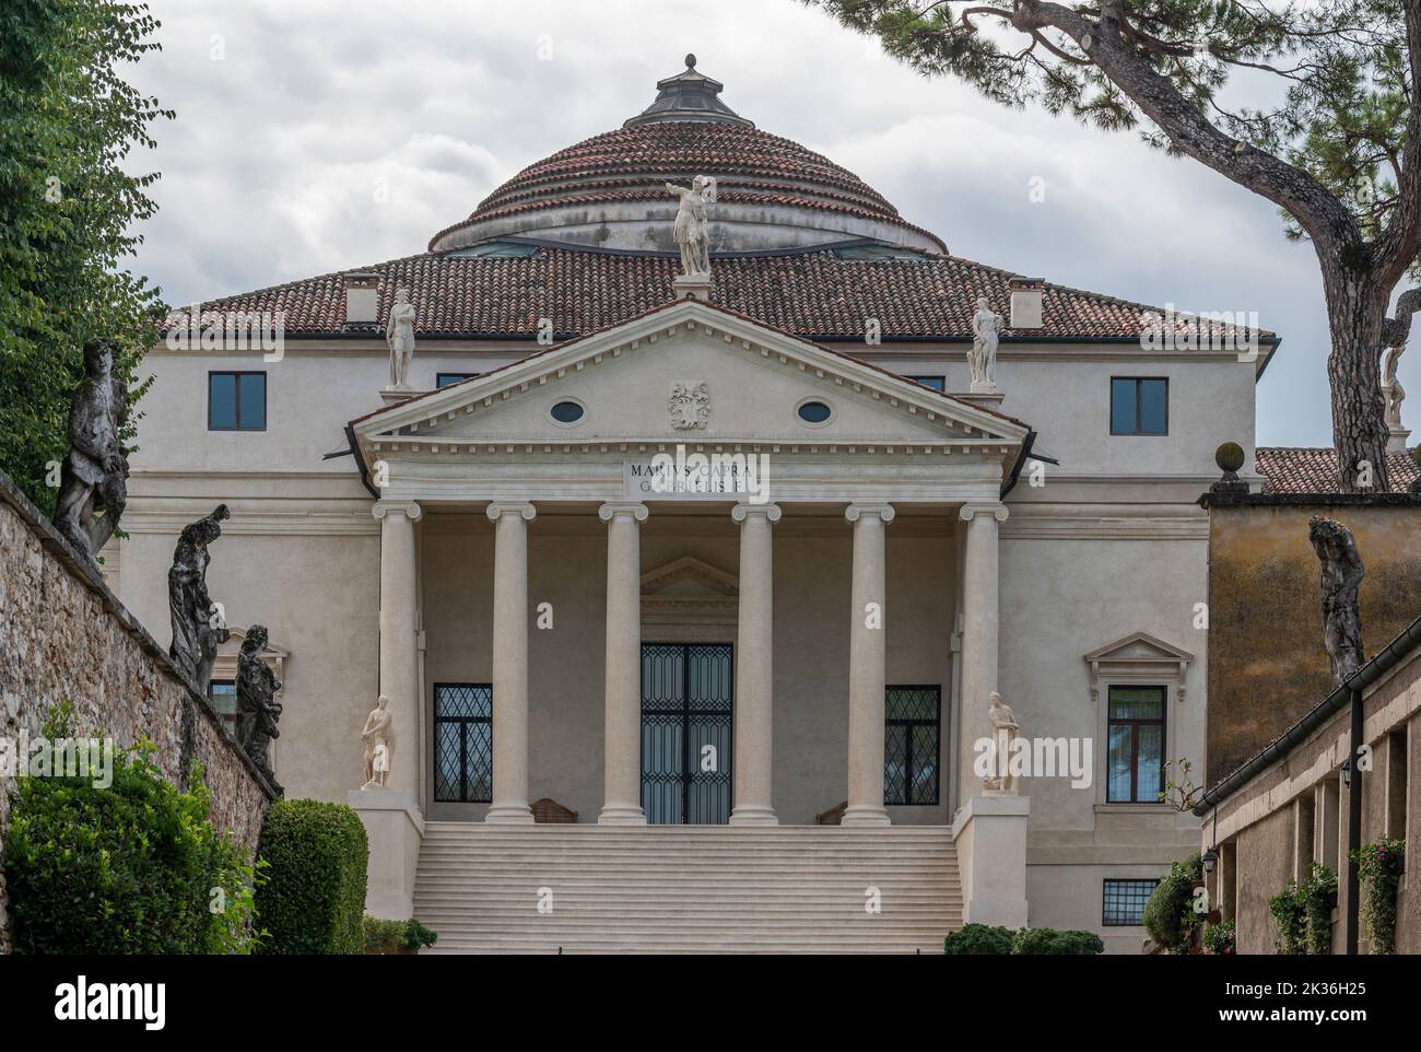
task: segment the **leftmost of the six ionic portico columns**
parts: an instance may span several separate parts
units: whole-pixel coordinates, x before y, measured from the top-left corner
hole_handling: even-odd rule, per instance
[[[379,520],[379,692],[389,698],[394,745],[389,789],[419,800],[419,654],[416,607],[419,570],[415,554],[414,500],[377,500]]]

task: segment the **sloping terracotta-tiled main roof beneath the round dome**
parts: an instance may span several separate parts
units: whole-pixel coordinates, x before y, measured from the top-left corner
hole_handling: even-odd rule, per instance
[[[378,317],[408,287],[425,336],[531,337],[551,318],[563,337],[625,321],[672,299],[679,266],[669,256],[540,247],[531,256],[425,253],[354,267],[379,276]],[[1013,276],[955,256],[847,259],[836,252],[716,259],[716,304],[806,338],[863,338],[875,318],[885,338],[969,338],[976,300],[1009,313]],[[345,321],[341,273],[227,296],[213,311],[283,311],[291,334],[338,334]],[[1044,326],[1005,336],[1137,338],[1152,310],[1047,284]],[[1269,334],[1265,334],[1269,336]]]

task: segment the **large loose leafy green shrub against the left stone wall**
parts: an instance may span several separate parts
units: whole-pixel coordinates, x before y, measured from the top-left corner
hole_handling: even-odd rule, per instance
[[[70,735],[70,708],[45,722]],[[207,819],[193,763],[188,790],[152,762],[155,746],[115,751],[112,783],[24,778],[6,836],[16,952],[250,952],[256,873]]]

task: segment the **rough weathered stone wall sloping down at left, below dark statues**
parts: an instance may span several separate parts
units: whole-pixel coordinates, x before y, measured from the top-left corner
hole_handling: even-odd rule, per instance
[[[101,574],[0,473],[0,735],[38,735],[65,699],[75,736],[112,738],[117,746],[148,738],[175,783],[200,761],[213,823],[256,847],[270,783]],[[13,790],[11,782],[0,792],[0,952],[10,950],[3,843]]]

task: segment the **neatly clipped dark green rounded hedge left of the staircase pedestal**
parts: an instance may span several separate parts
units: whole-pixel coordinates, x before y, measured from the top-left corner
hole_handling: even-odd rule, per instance
[[[364,951],[369,844],[354,810],[320,800],[274,803],[259,850],[269,871],[257,889],[257,923],[271,935],[261,952]]]

